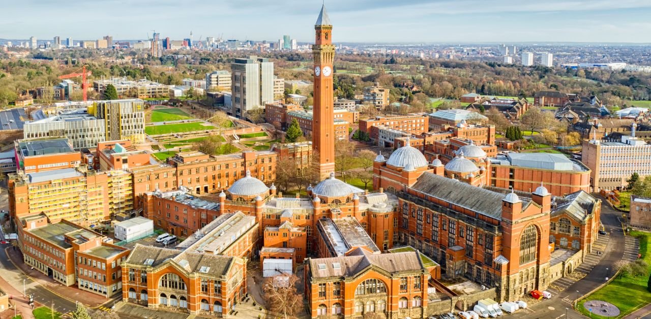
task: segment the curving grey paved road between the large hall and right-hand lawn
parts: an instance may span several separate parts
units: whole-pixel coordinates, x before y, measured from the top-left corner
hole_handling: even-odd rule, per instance
[[[595,195],[593,194],[593,196]],[[590,262],[590,260],[594,260],[594,257],[586,257],[586,263],[594,264],[594,266],[590,265],[587,268],[588,274],[583,279],[566,286],[564,290],[554,294],[551,299],[536,303],[531,307],[530,311],[520,311],[510,316],[513,318],[562,318],[567,313],[567,318],[585,318],[583,314],[572,309],[572,303],[578,297],[587,294],[590,290],[604,283],[605,277],[613,274],[613,264],[622,259],[624,255],[622,247],[625,246],[624,230],[619,221],[622,213],[610,207],[605,202],[605,198],[601,196],[595,197],[602,199],[602,223],[609,237],[602,258],[594,264],[594,262]],[[600,238],[600,241],[603,241],[603,239],[605,238]],[[579,268],[577,268],[577,271]]]

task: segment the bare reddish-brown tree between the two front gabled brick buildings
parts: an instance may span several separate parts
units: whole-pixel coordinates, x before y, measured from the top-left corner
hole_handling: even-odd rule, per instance
[[[293,317],[303,308],[303,295],[296,290],[296,275],[277,275],[264,279],[264,298],[270,310],[283,318]]]

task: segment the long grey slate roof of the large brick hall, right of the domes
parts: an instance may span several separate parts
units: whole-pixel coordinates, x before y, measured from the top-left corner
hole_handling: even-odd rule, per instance
[[[502,199],[505,198],[504,194],[430,172],[422,173],[418,181],[411,186],[411,189],[497,220],[502,219]],[[526,205],[527,201],[523,201],[522,207],[526,207]]]

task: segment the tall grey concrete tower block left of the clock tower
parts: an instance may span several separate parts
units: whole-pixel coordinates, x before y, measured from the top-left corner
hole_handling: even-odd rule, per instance
[[[268,58],[236,58],[232,71],[232,116],[247,118],[249,110],[273,101],[273,62]]]

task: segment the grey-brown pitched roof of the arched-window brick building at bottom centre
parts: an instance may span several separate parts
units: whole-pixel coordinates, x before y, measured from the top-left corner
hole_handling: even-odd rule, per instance
[[[365,249],[357,248],[348,256],[310,259],[309,262],[314,278],[352,277],[368,266],[376,266],[392,273],[425,270],[417,251],[373,254]],[[337,264],[339,264],[339,268],[336,267]],[[323,266],[320,268],[320,265]]]

